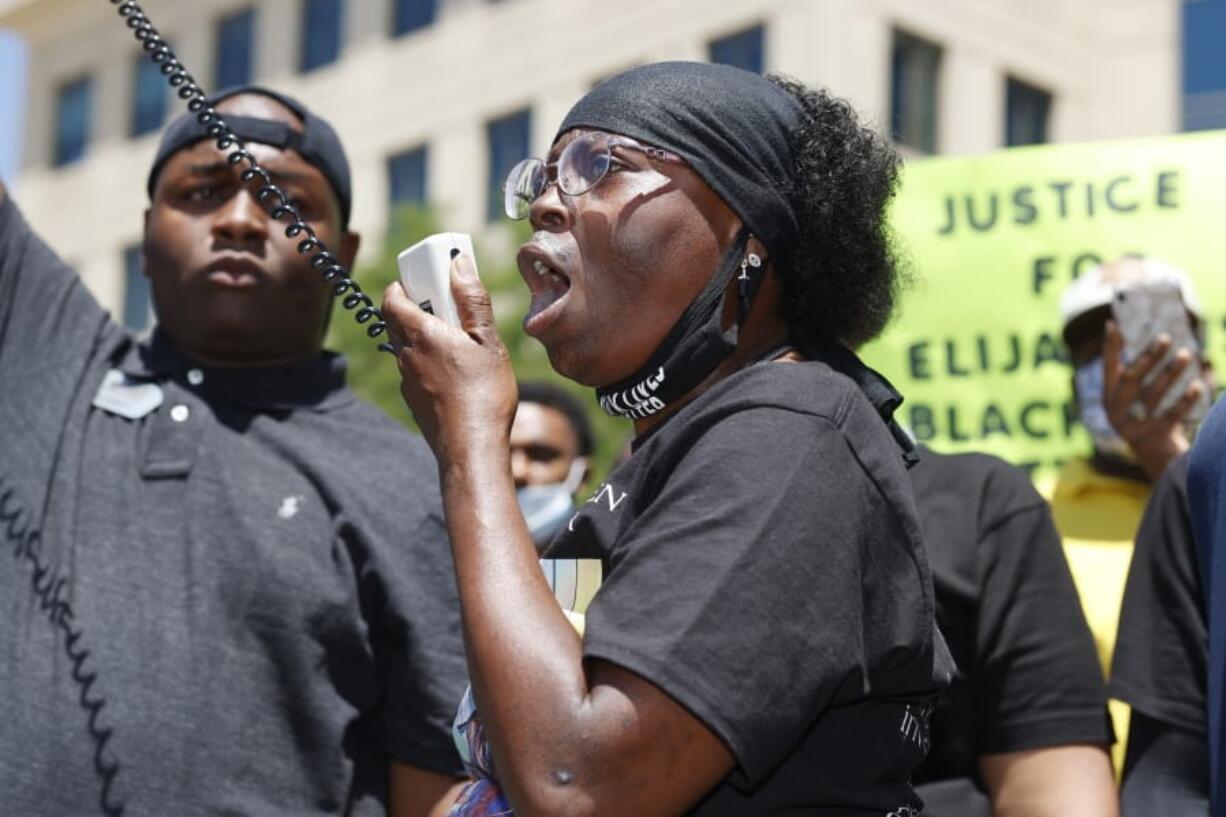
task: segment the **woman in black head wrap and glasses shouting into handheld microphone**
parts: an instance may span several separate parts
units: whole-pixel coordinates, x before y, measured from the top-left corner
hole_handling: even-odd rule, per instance
[[[452,266],[462,329],[389,288],[479,725],[452,813],[918,813],[951,665],[900,399],[848,351],[894,303],[896,171],[825,92],[662,63],[511,172],[525,329],[635,429],[550,548],[604,561],[582,637],[516,504],[515,379],[473,266]]]

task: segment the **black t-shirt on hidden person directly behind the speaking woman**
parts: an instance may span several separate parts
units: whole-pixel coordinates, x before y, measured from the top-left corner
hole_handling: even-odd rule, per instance
[[[1026,475],[994,456],[924,451],[911,483],[959,667],[916,781],[973,781],[956,808],[924,812],[962,815],[982,796],[982,754],[1110,743],[1107,698],[1059,534]]]

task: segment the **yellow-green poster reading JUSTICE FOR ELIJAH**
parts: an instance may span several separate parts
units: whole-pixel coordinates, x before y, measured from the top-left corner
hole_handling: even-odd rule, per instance
[[[1226,356],[1226,131],[910,162],[893,224],[916,280],[864,357],[934,449],[1041,470],[1089,451],[1059,297],[1102,260],[1187,270]]]

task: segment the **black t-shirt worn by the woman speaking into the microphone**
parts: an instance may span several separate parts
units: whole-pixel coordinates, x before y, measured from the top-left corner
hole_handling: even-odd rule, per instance
[[[951,665],[901,453],[850,379],[761,363],[718,383],[552,553],[606,563],[585,655],[658,686],[736,758],[693,815],[916,813]]]

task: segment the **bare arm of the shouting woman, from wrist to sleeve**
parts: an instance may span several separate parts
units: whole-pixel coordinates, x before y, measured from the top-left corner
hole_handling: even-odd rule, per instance
[[[603,661],[585,672],[517,510],[508,450],[504,434],[488,434],[440,459],[473,691],[499,777],[522,815],[682,813],[732,759],[653,685]]]

